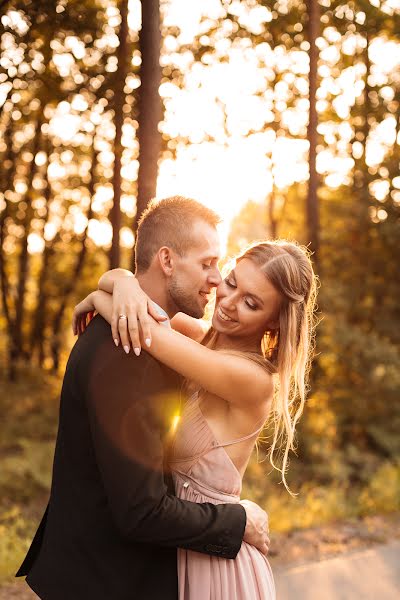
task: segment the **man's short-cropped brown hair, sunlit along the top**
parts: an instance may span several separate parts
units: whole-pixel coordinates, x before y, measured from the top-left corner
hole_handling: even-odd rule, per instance
[[[136,271],[143,273],[162,246],[168,246],[179,256],[193,247],[191,233],[197,221],[216,227],[221,219],[200,202],[183,196],[151,200],[139,219],[136,234]]]

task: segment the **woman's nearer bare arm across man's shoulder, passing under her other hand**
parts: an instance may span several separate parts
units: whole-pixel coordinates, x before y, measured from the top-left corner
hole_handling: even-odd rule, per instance
[[[112,297],[103,291],[93,293],[96,310],[108,321],[112,318]],[[241,356],[218,352],[155,321],[150,324],[152,344],[148,352],[183,377],[228,403],[244,407],[265,403],[272,395],[272,378],[258,365]]]

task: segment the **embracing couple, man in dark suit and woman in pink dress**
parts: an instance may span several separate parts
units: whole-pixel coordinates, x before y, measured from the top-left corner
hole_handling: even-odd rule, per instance
[[[17,573],[44,600],[275,598],[267,515],[241,483],[272,419],[286,485],[315,276],[302,247],[266,241],[222,280],[218,221],[152,203],[135,277],[108,271],[75,307],[50,500]]]

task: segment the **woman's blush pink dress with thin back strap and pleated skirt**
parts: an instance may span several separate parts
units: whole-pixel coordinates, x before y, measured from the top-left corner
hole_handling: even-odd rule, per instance
[[[239,502],[242,477],[225,447],[254,437],[218,443],[197,394],[183,411],[170,466],[179,498],[191,502]],[[178,550],[179,600],[274,600],[275,586],[265,556],[246,542],[234,560]]]

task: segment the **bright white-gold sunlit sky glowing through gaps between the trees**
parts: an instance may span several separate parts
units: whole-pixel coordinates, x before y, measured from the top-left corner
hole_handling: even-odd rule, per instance
[[[250,200],[265,202],[273,189],[284,192],[294,183],[308,179],[308,100],[304,97],[308,89],[307,47],[303,45],[290,52],[284,46],[273,50],[268,43],[251,46],[245,39],[229,46],[222,36],[214,54],[208,53],[201,62],[193,62],[190,52],[176,49],[201,33],[202,19],[207,17],[212,22],[221,15],[221,3],[219,0],[193,0],[189,4],[186,0],[175,0],[163,4],[162,10],[165,25],[176,26],[179,30],[176,38],[166,36],[164,39],[167,52],[162,63],[163,66],[181,68],[184,85],[182,89],[171,82],[160,86],[165,104],[160,129],[171,140],[168,142],[171,148],[179,137],[189,143],[178,143],[174,157],[167,152],[160,160],[157,197],[182,194],[214,208],[224,219],[221,226],[224,245],[232,219],[244,204]],[[255,33],[260,23],[268,23],[271,16],[265,7],[254,10],[240,2],[234,3],[234,10],[241,22]],[[130,0],[129,11],[129,26],[137,31],[141,20],[139,0]],[[114,47],[119,14],[115,7],[108,6],[106,15],[108,25],[99,43]],[[16,28],[22,30],[25,26],[19,13],[9,12],[6,18],[13,19]],[[353,56],[362,49],[364,42],[355,34],[342,38],[334,27],[327,27],[318,38],[321,79],[317,110],[322,113],[330,104],[339,117],[339,121],[332,118],[318,126],[323,149],[318,152],[317,170],[332,189],[350,183],[354,161],[364,151],[362,144],[354,140],[350,111],[365,93],[365,65],[354,61],[341,71],[337,69],[341,53]],[[88,58],[85,45],[74,36],[67,36],[62,44],[57,44],[57,48],[53,48],[56,50],[53,54],[56,69],[62,77],[74,76],[75,60]],[[384,38],[374,39],[369,56],[369,83],[373,86],[378,82],[383,86],[381,93],[390,101],[393,94],[390,77],[400,67],[400,44]],[[137,59],[135,54],[135,65]],[[136,74],[128,77],[126,85],[130,91],[138,87]],[[0,97],[7,93],[0,81]],[[84,93],[77,93],[70,102],[61,101],[47,110],[50,111],[48,128],[54,136],[54,145],[63,146],[64,151],[49,157],[40,152],[35,162],[41,167],[48,161],[49,179],[64,197],[73,193],[67,183],[71,177],[78,174],[84,183],[90,181],[90,160],[81,159],[77,173],[74,148],[82,145],[89,149],[91,133],[96,128],[95,148],[104,180],[96,186],[92,208],[100,218],[110,209],[113,198],[112,186],[107,179],[113,172],[114,125],[107,100],[91,105]],[[275,121],[276,110],[282,115],[279,122]],[[15,114],[13,118],[20,119],[21,115]],[[121,175],[126,187],[123,187],[121,209],[128,218],[132,218],[136,210],[134,194],[129,188],[138,174],[136,126],[132,119],[127,119],[123,126]],[[377,168],[384,162],[396,143],[395,136],[394,115],[387,114],[379,124],[371,127],[366,149],[369,167]],[[18,193],[22,193],[23,185],[22,180],[16,182]],[[378,200],[385,197],[384,185],[378,182],[370,187]],[[85,218],[75,215],[73,221],[76,233],[81,233],[86,227]],[[51,223],[48,225],[51,227]],[[40,252],[36,234],[32,235],[29,251]],[[107,246],[111,241],[110,226],[101,220],[91,219],[88,235],[100,246]],[[133,244],[133,237],[125,229],[121,232],[121,243],[126,248]]]

